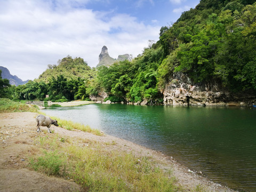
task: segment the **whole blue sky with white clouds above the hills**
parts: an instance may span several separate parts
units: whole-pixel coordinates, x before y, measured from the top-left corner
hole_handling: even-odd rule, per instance
[[[103,45],[110,57],[137,57],[199,0],[0,0],[0,66],[23,81],[70,55],[90,67]]]

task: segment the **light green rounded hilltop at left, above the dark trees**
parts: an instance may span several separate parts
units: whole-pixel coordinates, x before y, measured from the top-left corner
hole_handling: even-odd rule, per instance
[[[84,59],[73,59],[68,55],[60,61],[59,65],[48,65],[48,68],[39,75],[36,81],[49,82],[52,76],[56,78],[59,75],[68,79],[77,79],[77,77],[88,79],[95,75],[95,70],[88,66]]]

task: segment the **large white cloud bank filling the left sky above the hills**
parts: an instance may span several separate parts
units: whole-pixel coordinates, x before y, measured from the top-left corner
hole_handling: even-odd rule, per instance
[[[159,26],[147,26],[130,15],[105,21],[108,13],[71,8],[87,1],[1,1],[0,66],[23,80],[34,79],[68,54],[95,67],[103,45],[111,57],[136,57],[148,39],[158,39]]]

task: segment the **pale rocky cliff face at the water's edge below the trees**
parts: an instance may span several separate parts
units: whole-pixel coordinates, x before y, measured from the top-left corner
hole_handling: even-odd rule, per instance
[[[177,73],[163,90],[164,105],[173,106],[251,106],[256,95],[231,93],[218,83],[193,83],[186,75]]]

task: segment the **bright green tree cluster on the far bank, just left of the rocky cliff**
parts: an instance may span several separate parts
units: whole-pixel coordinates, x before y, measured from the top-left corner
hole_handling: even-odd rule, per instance
[[[145,49],[143,55],[131,62],[125,60],[109,68],[99,67],[98,85],[109,94],[107,99],[112,102],[142,101],[146,99],[145,91],[156,87],[158,62],[162,59],[163,49],[160,47]]]

